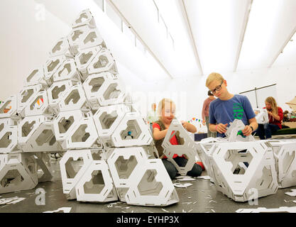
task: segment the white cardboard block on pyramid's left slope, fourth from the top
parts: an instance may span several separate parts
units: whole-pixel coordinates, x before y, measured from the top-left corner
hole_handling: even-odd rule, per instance
[[[62,62],[65,62],[68,57],[65,55],[60,55],[56,57],[50,57],[46,62],[44,66],[44,74],[45,74],[45,81],[48,83],[50,86],[53,84],[53,74],[57,72],[57,69],[60,68],[62,65]]]

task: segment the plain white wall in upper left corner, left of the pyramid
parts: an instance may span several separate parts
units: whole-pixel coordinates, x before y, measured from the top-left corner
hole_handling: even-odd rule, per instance
[[[44,64],[50,48],[70,26],[33,0],[0,1],[0,101],[17,94],[35,67]]]

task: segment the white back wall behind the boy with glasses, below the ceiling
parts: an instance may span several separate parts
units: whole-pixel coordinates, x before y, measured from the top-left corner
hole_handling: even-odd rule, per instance
[[[278,106],[282,107],[283,111],[291,111],[290,107],[285,103],[296,96],[296,65],[219,73],[227,80],[229,92],[232,94],[239,94],[255,87],[277,84]],[[180,118],[190,120],[193,117],[202,118],[202,105],[204,99],[207,99],[208,91],[207,87],[205,87],[206,79],[207,76],[172,79],[149,84],[149,87],[151,91],[154,91],[154,94],[156,94],[156,91],[163,89],[169,93],[167,96],[177,93],[177,109],[182,112]],[[165,97],[165,94],[160,95],[155,97],[155,101]],[[149,102],[148,106],[150,106],[150,103],[152,102]],[[253,106],[253,108],[256,108],[256,106]]]

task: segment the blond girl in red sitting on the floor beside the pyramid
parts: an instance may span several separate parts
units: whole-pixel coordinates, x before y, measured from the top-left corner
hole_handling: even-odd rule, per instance
[[[162,99],[160,103],[158,104],[158,116],[159,120],[155,121],[153,123],[153,140],[155,142],[155,147],[158,150],[158,154],[160,158],[163,160],[163,165],[165,166],[165,169],[168,171],[168,175],[170,175],[171,179],[174,179],[177,175],[177,169],[176,167],[168,160],[167,157],[163,154],[163,147],[161,146],[163,143],[163,140],[165,139],[165,135],[168,132],[168,128],[170,127],[170,123],[172,122],[172,119],[175,118],[175,103],[170,99]],[[195,133],[197,131],[197,128],[193,126],[191,123],[188,123],[186,121],[181,121],[182,126],[189,132]],[[176,132],[174,136],[170,139],[170,143],[172,145],[179,145],[184,143],[182,138],[180,138],[180,133]],[[180,167],[184,167],[187,163],[187,158],[178,155],[173,155],[172,157],[177,165]],[[192,170],[187,172],[187,175],[191,177],[198,177],[202,174],[202,162],[194,163],[194,166],[192,167]]]

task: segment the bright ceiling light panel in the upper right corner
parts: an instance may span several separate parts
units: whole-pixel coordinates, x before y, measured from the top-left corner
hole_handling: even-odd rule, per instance
[[[254,0],[237,70],[268,67],[295,28],[296,1]]]

